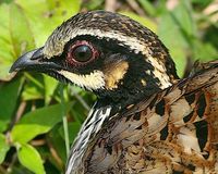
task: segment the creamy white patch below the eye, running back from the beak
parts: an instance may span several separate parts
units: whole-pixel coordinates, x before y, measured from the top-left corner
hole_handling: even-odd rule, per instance
[[[105,88],[105,77],[104,73],[100,71],[94,71],[86,75],[77,75],[64,70],[61,70],[58,73],[68,78],[73,84],[82,88],[86,88],[90,91]]]

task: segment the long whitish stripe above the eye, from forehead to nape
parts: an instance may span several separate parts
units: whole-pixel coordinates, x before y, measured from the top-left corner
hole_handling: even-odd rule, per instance
[[[92,28],[89,29],[64,28],[64,29],[68,32],[65,32],[64,36],[61,36],[62,38],[52,37],[55,35],[58,35],[58,33],[60,34],[60,30],[55,30],[51,38],[47,40],[45,45],[44,53],[48,59],[53,55],[61,54],[64,49],[64,45],[71,39],[75,38],[76,36],[90,35],[98,38],[107,37],[109,39],[118,40],[121,46],[130,47],[130,49],[133,50],[135,53],[142,52],[143,54],[145,54],[146,55],[145,61],[147,61],[148,63],[153,65],[154,67],[153,73],[159,79],[161,89],[165,89],[172,85],[170,83],[170,78],[168,74],[166,73],[167,70],[166,70],[165,64],[161,61],[158,62],[157,59],[152,55],[153,51],[149,49],[149,47],[146,47],[145,44],[138,38],[125,36],[118,30],[102,32],[100,29],[92,29]]]

